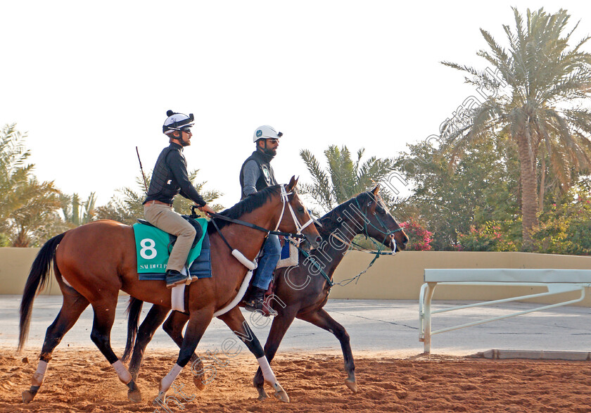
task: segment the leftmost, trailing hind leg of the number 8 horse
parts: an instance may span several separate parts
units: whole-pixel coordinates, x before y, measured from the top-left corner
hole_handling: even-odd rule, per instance
[[[89,305],[88,300],[80,295],[80,293],[77,293],[74,288],[62,286],[62,293],[62,307],[58,317],[56,317],[51,326],[47,327],[37,371],[35,371],[31,380],[31,388],[22,393],[23,402],[25,403],[31,402],[39,391],[43,383],[47,364],[51,360],[53,349],[57,347],[65,333],[72,328],[80,317],[80,314]]]

